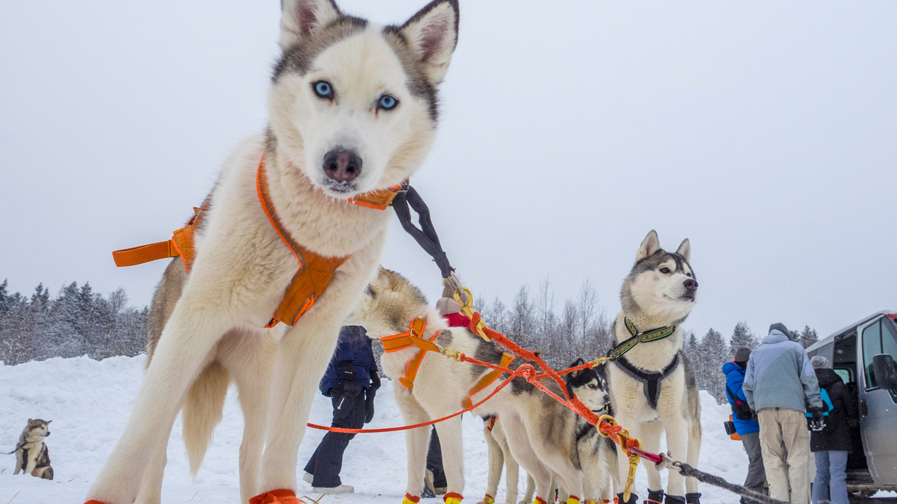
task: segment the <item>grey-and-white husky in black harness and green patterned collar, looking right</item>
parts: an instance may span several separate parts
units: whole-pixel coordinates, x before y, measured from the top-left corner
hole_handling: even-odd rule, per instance
[[[664,251],[654,230],[642,241],[635,265],[623,282],[623,312],[614,321],[614,338],[619,344],[654,330],[658,332],[653,334],[666,337],[635,344],[605,368],[616,420],[652,452],[658,451],[660,433],[666,431],[670,455],[696,465],[701,449],[701,404],[678,327],[692,311],[698,290],[689,264],[691,252],[688,239],[675,253]],[[625,482],[629,465],[619,451],[618,461],[620,481]],[[653,464],[645,462],[645,467],[649,500],[659,502],[664,496],[660,474]],[[697,491],[696,480],[684,481],[678,472],[669,472],[666,504],[697,504],[701,496]],[[618,495],[623,504],[622,494]],[[630,502],[636,501],[634,495]]]

